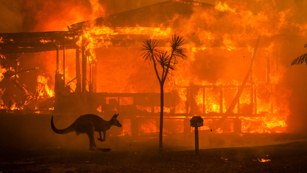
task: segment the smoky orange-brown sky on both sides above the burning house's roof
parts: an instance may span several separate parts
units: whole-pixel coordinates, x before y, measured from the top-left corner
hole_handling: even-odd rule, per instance
[[[122,11],[152,5],[165,0],[130,1],[130,0],[0,0],[0,32],[40,32],[51,30],[67,30],[67,26],[73,23],[90,20],[95,17],[103,17]],[[306,1],[274,1],[274,0],[246,0],[238,3],[237,0],[199,0],[199,2],[216,4],[227,2],[232,8],[239,9],[246,6],[252,13],[257,14],[263,6],[272,6],[272,10],[290,9],[297,23],[305,23]],[[94,12],[95,3],[102,8],[99,13]],[[94,14],[95,13],[95,14]]]

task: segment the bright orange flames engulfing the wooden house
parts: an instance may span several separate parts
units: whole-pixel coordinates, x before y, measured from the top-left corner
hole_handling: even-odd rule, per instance
[[[285,132],[287,116],[291,113],[288,101],[291,91],[281,85],[286,73],[280,62],[282,37],[293,34],[294,31],[295,35],[306,37],[307,24],[300,24],[293,19],[294,7],[278,9],[275,8],[274,1],[254,3],[259,7],[258,10],[247,3],[237,1],[216,1],[213,6],[202,6],[201,3],[193,2],[192,14],[189,17],[174,15],[171,19],[173,22],[168,25],[161,23],[160,26],[148,27],[139,23],[134,27],[111,27],[108,23],[97,25],[95,19],[106,16],[105,8],[98,1],[90,1],[93,10],[91,19],[82,26],[76,42],[79,49],[84,46],[84,56],[87,58],[86,90],[94,93],[158,93],[159,85],[153,68],[144,64],[140,57],[141,43],[148,38],[157,39],[163,43],[161,49],[168,49],[167,40],[172,34],[179,34],[186,40],[185,47],[189,58],[176,64],[177,70],[172,71],[165,85],[165,92],[175,91],[178,96],[174,107],[163,108],[167,123],[173,127],[166,126],[165,131],[183,132],[184,119],[191,119],[194,115],[204,118],[204,127],[200,130],[212,129],[222,114],[228,111],[255,54],[251,74],[237,105],[215,132],[234,132],[238,119],[241,121],[239,126],[243,133]],[[77,9],[80,8],[78,6]],[[78,15],[73,15],[72,19],[71,13]],[[59,30],[62,26],[66,27],[67,22],[86,20],[85,16],[89,13],[88,10],[69,11],[61,18],[48,18],[47,21],[38,19],[44,27],[35,30]],[[55,22],[62,25],[53,25]],[[260,44],[256,47],[258,37]],[[40,41],[45,44],[53,42],[45,39]],[[3,42],[2,38],[0,42]],[[64,51],[65,62],[60,60],[59,64],[63,66],[65,63],[65,69],[60,68],[59,73],[65,74],[62,79],[67,83],[79,74],[74,72],[75,50]],[[37,76],[36,86],[37,99],[47,99],[55,95],[54,86],[50,84],[56,74],[55,60],[51,58],[54,57],[54,52],[37,54],[49,57],[41,62],[44,63],[44,72]],[[23,56],[25,55],[20,54],[19,58]],[[79,61],[82,63],[81,57]],[[1,66],[0,70],[2,80],[8,69]],[[76,85],[69,87],[72,92],[77,90]],[[0,95],[3,92],[4,89],[1,89]],[[120,100],[127,97],[114,98],[119,108],[134,105],[133,99],[125,103]],[[95,110],[103,112],[103,105],[111,105],[109,100],[107,102]],[[6,107],[2,100],[0,106]],[[139,134],[157,132],[159,122],[155,113],[161,108],[135,105],[135,109],[138,112],[152,113],[151,117],[147,118],[145,113],[131,115],[134,116],[133,119],[139,118]],[[132,127],[129,126],[133,123],[133,120],[126,116],[121,135],[131,135]]]

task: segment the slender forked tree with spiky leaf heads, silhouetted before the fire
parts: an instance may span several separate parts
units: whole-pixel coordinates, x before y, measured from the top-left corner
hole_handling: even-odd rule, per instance
[[[183,37],[179,37],[176,35],[172,36],[172,40],[170,40],[170,44],[172,47],[172,52],[169,54],[167,51],[161,51],[157,48],[158,42],[157,40],[153,39],[147,39],[146,42],[143,42],[142,46],[144,47],[142,50],[145,52],[141,55],[143,56],[143,59],[145,59],[145,62],[148,61],[148,63],[152,64],[157,78],[160,83],[160,131],[159,131],[159,152],[161,153],[163,151],[162,149],[162,134],[163,134],[163,107],[164,107],[164,96],[163,96],[163,86],[164,82],[166,80],[166,77],[170,70],[176,70],[175,64],[177,63],[176,58],[181,57],[183,59],[186,59],[187,56],[185,53],[187,52],[185,48],[181,47],[184,43]],[[159,67],[161,66],[161,68]],[[158,69],[159,67],[159,69]],[[158,70],[162,74],[160,76]]]

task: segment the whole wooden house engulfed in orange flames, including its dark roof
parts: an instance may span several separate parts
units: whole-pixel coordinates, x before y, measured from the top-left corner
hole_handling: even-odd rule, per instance
[[[281,52],[286,38],[306,37],[306,26],[287,22],[290,10],[232,5],[165,1],[66,31],[1,33],[0,106],[119,113],[121,135],[158,132],[161,109],[169,133],[190,132],[194,115],[208,132],[284,132],[290,90],[281,85]],[[153,67],[140,56],[142,42],[156,39],[168,50],[173,34],[185,39],[188,58],[169,75],[160,108]]]

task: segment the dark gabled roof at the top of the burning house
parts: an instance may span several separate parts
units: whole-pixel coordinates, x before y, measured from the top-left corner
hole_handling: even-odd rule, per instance
[[[97,18],[95,26],[108,27],[174,27],[174,23],[193,14],[193,8],[214,8],[213,5],[191,0],[165,1],[142,8],[129,10],[107,17]],[[93,21],[84,21],[69,26],[69,30],[80,30]]]

